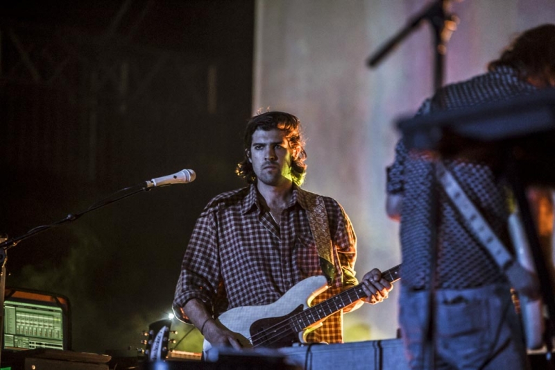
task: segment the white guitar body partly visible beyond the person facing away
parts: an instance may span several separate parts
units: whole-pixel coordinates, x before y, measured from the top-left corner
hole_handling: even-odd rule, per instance
[[[518,212],[514,212],[509,217],[509,233],[511,234],[511,239],[515,246],[518,262],[524,269],[536,274],[536,267],[534,267],[533,264],[530,246]],[[519,296],[519,300],[526,345],[530,349],[541,348],[543,346],[543,331],[545,329],[543,301],[541,298],[536,299],[536,301],[531,301],[522,295]]]

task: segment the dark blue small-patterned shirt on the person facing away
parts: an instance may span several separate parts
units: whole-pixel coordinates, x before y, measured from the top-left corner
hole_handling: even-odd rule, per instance
[[[418,115],[478,106],[535,91],[536,87],[520,81],[515,70],[499,67],[468,81],[443,87],[432,99],[425,101]],[[506,246],[510,246],[504,183],[483,162],[444,160],[444,165],[492,230]],[[470,231],[459,210],[434,178],[432,162],[418,153],[409,152],[400,140],[395,149],[395,162],[388,167],[387,192],[402,195],[402,285],[411,289],[429,287],[431,230],[434,229],[437,232],[436,288],[466,289],[506,281],[495,260]],[[436,220],[432,219],[434,198],[438,205]]]

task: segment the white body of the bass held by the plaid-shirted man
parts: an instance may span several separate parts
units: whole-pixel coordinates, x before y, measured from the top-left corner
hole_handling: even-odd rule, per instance
[[[289,289],[278,301],[269,305],[245,306],[232,308],[220,315],[218,321],[234,333],[240,335],[239,342],[244,347],[253,346],[251,328],[253,323],[268,318],[280,319],[293,311],[302,311],[309,308],[314,297],[318,296],[327,289],[327,282],[324,276],[312,276],[300,281]],[[320,324],[321,325],[321,324]],[[311,329],[318,327],[318,323],[311,326]],[[277,331],[277,329],[276,329]],[[309,330],[310,331],[310,330]],[[302,331],[298,334],[298,341],[305,342],[304,337],[307,332]],[[271,333],[269,333],[271,335]],[[203,351],[206,353],[212,344],[206,339],[203,344]]]

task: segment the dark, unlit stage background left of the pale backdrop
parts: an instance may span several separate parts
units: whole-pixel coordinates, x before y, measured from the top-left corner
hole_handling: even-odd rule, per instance
[[[248,0],[0,2],[0,232],[180,169],[197,175],[8,251],[8,286],[69,298],[74,350],[140,347],[170,312],[199,212],[243,186],[253,24]]]

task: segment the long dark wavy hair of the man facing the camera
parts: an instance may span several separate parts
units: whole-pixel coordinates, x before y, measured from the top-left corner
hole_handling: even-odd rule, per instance
[[[248,121],[244,135],[245,158],[237,164],[235,173],[242,178],[246,178],[248,183],[255,182],[256,174],[253,165],[248,160],[248,153],[250,152],[250,145],[253,144],[253,134],[259,128],[264,131],[270,131],[273,128],[284,131],[289,146],[298,153],[291,161],[291,177],[293,183],[299,186],[302,185],[307,174],[305,142],[302,139],[300,120],[286,112],[265,112]]]

